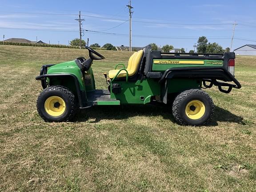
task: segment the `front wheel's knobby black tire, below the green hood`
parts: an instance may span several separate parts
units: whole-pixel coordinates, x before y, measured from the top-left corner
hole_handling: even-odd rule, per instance
[[[45,107],[47,104],[49,105],[53,105],[54,109],[57,108],[59,110],[59,108],[61,107],[61,104],[59,102],[56,102],[54,104],[52,104],[52,102],[54,102],[54,100],[52,100],[52,102],[50,102],[51,98],[61,98],[60,99],[60,103],[63,103],[62,106],[62,110],[59,116],[56,116],[54,113],[54,116],[50,115],[49,111],[47,112]],[[48,88],[45,88],[40,95],[38,96],[37,99],[37,112],[39,113],[39,115],[48,122],[62,122],[62,121],[70,121],[72,120],[72,118],[75,116],[76,111],[77,111],[77,102],[76,102],[76,97],[74,96],[74,94],[68,90],[65,87],[62,86],[51,86]],[[52,106],[50,106],[52,108]]]

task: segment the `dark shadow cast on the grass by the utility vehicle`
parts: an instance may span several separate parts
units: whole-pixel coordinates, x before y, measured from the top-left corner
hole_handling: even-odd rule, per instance
[[[176,123],[172,116],[172,109],[169,106],[156,105],[121,105],[121,106],[94,106],[88,109],[80,110],[76,116],[76,121],[83,122],[89,119],[95,119],[92,123],[100,122],[100,120],[123,120],[133,116],[156,117],[162,116],[164,119],[171,120]],[[237,124],[245,124],[243,118],[236,116],[231,112],[215,107],[215,113],[212,120],[206,126],[217,126],[220,122],[232,122]]]

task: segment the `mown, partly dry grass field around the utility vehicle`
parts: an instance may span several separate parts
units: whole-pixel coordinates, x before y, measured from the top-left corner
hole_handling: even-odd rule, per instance
[[[103,72],[129,52],[100,51]],[[240,90],[207,90],[216,104],[202,127],[177,125],[170,108],[95,107],[74,122],[45,123],[36,111],[43,64],[85,50],[0,45],[0,191],[256,191],[256,57],[236,59]]]

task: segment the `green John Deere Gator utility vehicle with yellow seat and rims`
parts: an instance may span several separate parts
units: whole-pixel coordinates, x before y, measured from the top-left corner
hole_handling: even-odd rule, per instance
[[[190,54],[152,51],[151,46],[135,52],[124,64],[104,73],[107,90],[95,88],[93,60],[104,59],[86,47],[88,59],[41,68],[44,90],[37,100],[37,110],[45,121],[72,120],[78,108],[93,105],[168,104],[179,124],[202,125],[212,117],[214,104],[202,89],[218,86],[229,93],[241,88],[234,78],[235,54]]]

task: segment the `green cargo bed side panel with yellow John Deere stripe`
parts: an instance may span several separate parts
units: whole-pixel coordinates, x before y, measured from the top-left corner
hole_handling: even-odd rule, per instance
[[[223,60],[154,59],[152,71],[166,71],[169,68],[184,67],[222,67],[223,64]]]

